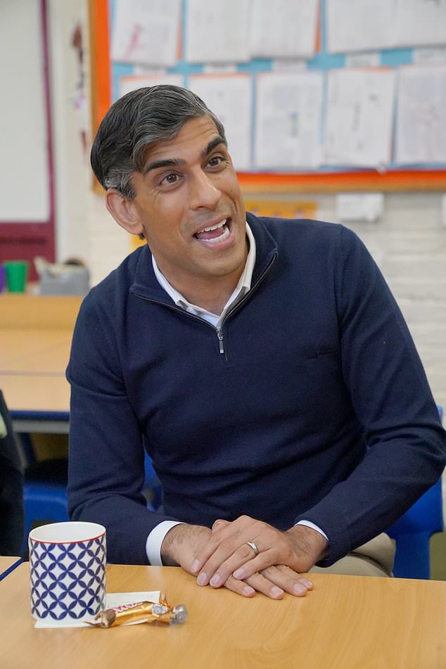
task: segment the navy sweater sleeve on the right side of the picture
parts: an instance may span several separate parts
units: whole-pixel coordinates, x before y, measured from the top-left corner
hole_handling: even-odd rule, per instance
[[[340,228],[340,356],[367,452],[346,480],[295,519],[329,537],[319,566],[389,528],[438,480],[446,460],[446,433],[402,314],[365,246]]]

